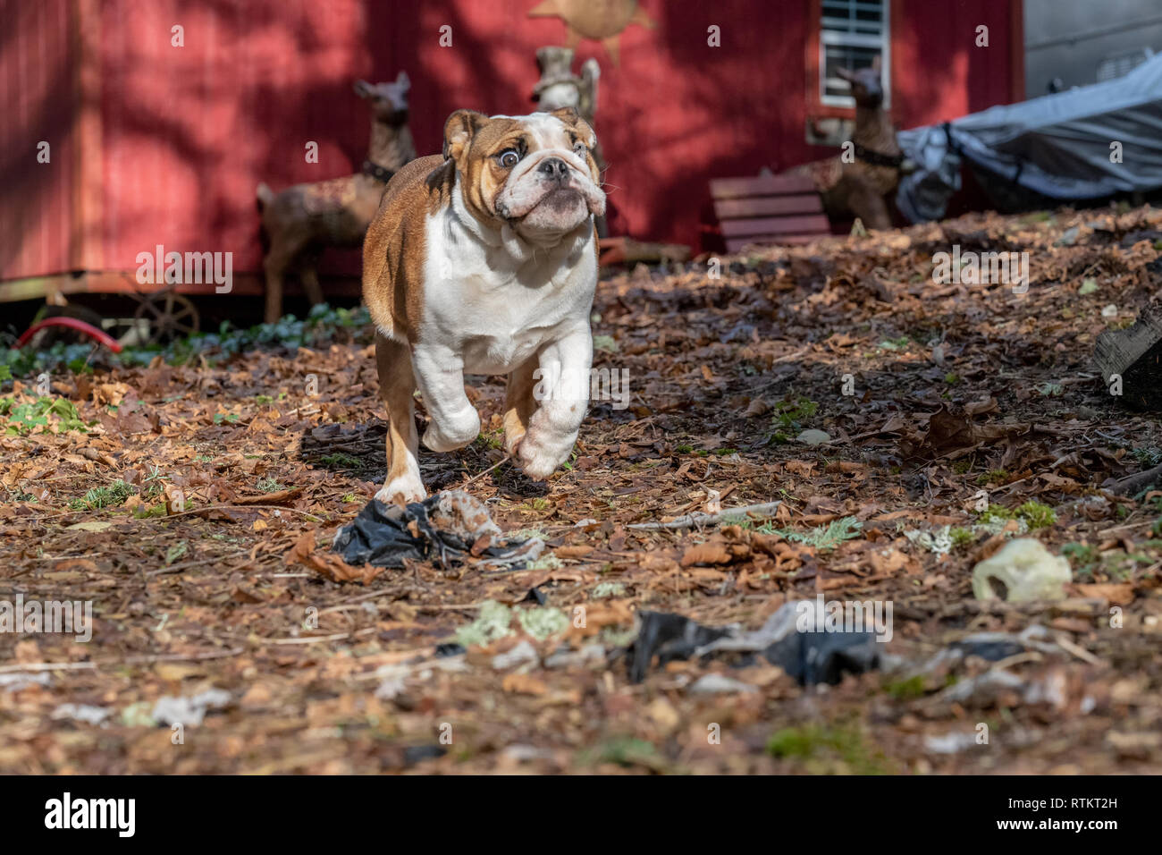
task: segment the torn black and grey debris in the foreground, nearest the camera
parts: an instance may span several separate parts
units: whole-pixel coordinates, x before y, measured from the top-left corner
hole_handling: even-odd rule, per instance
[[[815,604],[803,604],[813,608]],[[760,629],[706,627],[679,614],[645,612],[637,640],[629,650],[630,681],[640,683],[658,657],[658,667],[672,660],[731,658],[740,668],[759,656],[779,665],[799,685],[834,685],[845,674],[863,674],[881,667],[881,642],[870,632],[824,632],[805,621],[801,603],[787,603]]]

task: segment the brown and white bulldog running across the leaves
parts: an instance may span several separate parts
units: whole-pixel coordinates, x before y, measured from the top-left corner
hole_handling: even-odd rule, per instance
[[[476,439],[466,373],[508,375],[504,448],[525,475],[547,478],[568,458],[593,362],[593,219],[605,209],[596,142],[572,108],[460,109],[444,124],[443,156],[413,161],[388,184],[364,242],[363,282],[389,420],[381,501],[426,497],[417,386],[428,448]]]

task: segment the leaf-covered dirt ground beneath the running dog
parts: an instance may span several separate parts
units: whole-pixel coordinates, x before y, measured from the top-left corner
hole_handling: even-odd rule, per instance
[[[480,476],[503,459],[501,378],[472,379],[473,446],[422,450],[430,490],[480,476],[466,490],[503,530],[547,540],[523,570],[329,551],[385,469],[367,329],[185,364],[96,354],[45,396],[77,419],[17,423],[41,396],[0,385],[0,600],[94,612],[87,643],[0,634],[0,771],[1162,771],[1162,493],[1103,487],[1162,462],[1162,432],[1090,361],[1154,297],[1159,228],[1148,208],[971,215],[718,278],[610,273],[596,365],[632,394],[594,404],[568,469]],[[952,244],[1027,251],[1028,292],[934,284]],[[974,564],[1026,527],[1068,556],[1066,598],[978,600]],[[833,686],[715,657],[627,677],[639,610],[753,629],[817,594],[890,601],[904,663],[1033,625],[1053,650]],[[437,649],[496,604],[502,637]]]

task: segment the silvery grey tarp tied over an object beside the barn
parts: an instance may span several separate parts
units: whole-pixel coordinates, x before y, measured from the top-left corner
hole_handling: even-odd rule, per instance
[[[1111,162],[1113,142],[1121,163]],[[960,157],[1063,201],[1162,188],[1162,54],[1114,80],[901,131],[899,145],[918,165],[896,194],[912,222],[944,215]]]

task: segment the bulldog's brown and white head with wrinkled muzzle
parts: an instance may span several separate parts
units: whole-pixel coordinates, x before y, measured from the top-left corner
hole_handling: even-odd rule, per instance
[[[596,142],[572,108],[492,117],[460,109],[444,126],[444,157],[456,163],[468,209],[535,241],[605,212]]]

